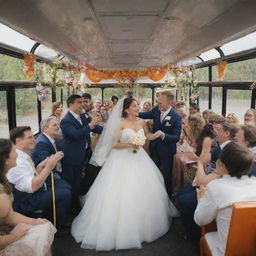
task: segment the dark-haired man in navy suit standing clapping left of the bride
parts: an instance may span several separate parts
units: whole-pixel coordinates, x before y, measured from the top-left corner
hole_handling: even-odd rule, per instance
[[[63,178],[72,187],[72,210],[80,210],[78,191],[82,171],[91,157],[90,132],[101,133],[102,127],[96,125],[101,116],[90,118],[81,114],[83,102],[80,95],[70,95],[67,99],[68,112],[61,120],[63,134]]]

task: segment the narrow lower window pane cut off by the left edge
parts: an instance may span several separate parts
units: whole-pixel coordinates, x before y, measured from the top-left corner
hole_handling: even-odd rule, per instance
[[[0,138],[9,138],[6,91],[0,91]]]

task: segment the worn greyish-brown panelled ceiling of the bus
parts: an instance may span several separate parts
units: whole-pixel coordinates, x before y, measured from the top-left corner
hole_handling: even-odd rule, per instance
[[[256,30],[255,0],[0,0],[0,22],[77,63],[144,68]]]

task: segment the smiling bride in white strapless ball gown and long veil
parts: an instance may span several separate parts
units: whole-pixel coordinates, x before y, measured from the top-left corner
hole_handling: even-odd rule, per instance
[[[133,98],[118,102],[91,158],[103,167],[71,228],[82,248],[141,248],[164,235],[177,215],[159,169],[142,147],[129,142],[137,133],[156,139],[137,118],[138,110]]]

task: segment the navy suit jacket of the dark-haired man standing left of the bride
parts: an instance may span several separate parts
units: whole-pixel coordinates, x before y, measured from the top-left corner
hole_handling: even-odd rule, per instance
[[[103,127],[99,125],[90,129],[88,124],[91,118],[88,115],[81,114],[80,117],[82,125],[70,112],[60,122],[63,134],[63,163],[84,165],[91,155],[90,132],[102,132]]]

